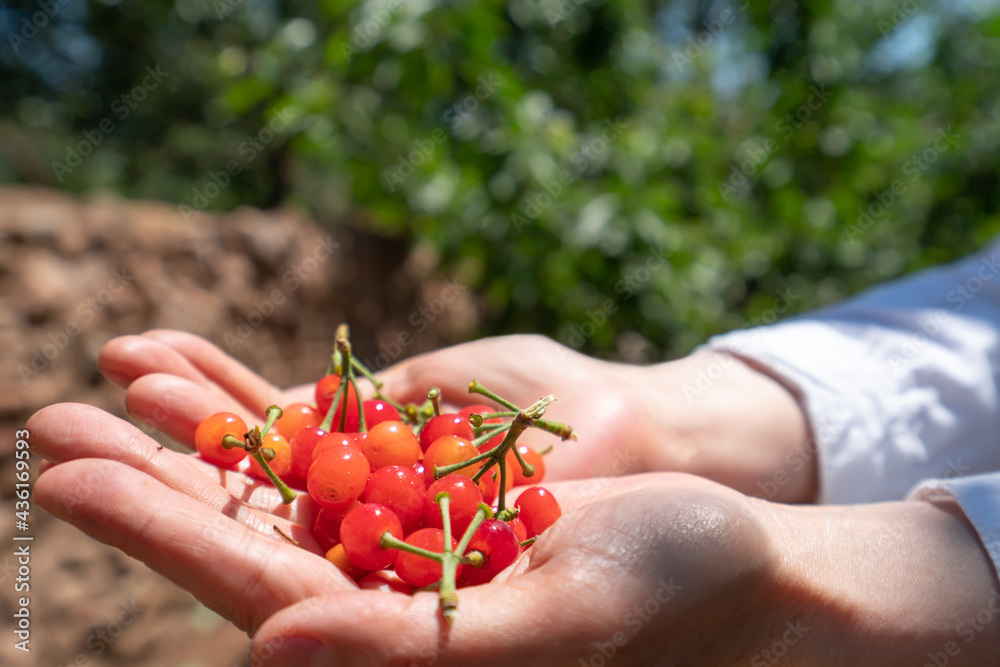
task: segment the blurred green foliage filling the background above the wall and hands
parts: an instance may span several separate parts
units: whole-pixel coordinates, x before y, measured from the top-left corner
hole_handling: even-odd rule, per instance
[[[470,335],[674,356],[1000,231],[995,0],[29,0],[0,33],[0,180],[399,236]]]

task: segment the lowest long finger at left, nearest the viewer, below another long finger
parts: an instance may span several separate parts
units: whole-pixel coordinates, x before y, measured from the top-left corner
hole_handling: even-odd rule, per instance
[[[249,632],[283,607],[351,587],[319,556],[265,537],[116,461],[56,466],[38,478],[35,498]]]

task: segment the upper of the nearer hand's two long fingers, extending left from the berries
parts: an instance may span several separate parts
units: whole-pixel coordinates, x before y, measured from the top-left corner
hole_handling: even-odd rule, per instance
[[[296,526],[311,527],[315,521],[317,510],[307,494],[299,494],[293,503],[284,505],[269,484],[250,481],[239,472],[222,470],[196,457],[160,448],[131,424],[89,405],[49,406],[33,415],[27,428],[32,434],[32,448],[48,461],[108,459],[123,463],[217,512],[234,512],[233,502],[238,499],[239,503],[263,513],[247,515],[247,521],[255,520],[265,532],[273,532],[270,526],[275,518]],[[289,530],[304,546],[319,552],[308,531],[297,527]]]

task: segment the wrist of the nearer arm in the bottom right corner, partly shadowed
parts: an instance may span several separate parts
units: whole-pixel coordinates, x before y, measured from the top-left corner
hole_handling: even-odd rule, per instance
[[[954,502],[761,504],[770,603],[810,629],[802,664],[1000,664],[996,574]]]

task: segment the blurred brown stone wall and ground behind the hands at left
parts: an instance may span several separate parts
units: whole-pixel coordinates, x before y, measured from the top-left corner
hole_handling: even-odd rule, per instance
[[[470,295],[435,280],[433,270],[433,256],[419,250],[323,228],[289,211],[185,220],[170,204],[0,188],[5,516],[14,512],[14,432],[34,411],[79,401],[127,417],[122,390],[97,372],[98,351],[110,338],[184,329],[289,385],[319,377],[334,329],[346,321],[357,353],[384,366],[475,324]],[[189,595],[40,509],[31,516],[33,651],[16,651],[10,639],[16,562],[5,549],[0,604],[8,641],[0,644],[0,664],[208,667],[242,660],[242,633]],[[12,544],[13,526],[4,533]]]

